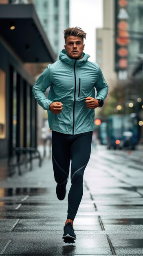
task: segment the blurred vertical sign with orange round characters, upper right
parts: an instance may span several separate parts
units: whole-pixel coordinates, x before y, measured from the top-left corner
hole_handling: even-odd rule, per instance
[[[115,71],[119,80],[128,78],[128,0],[115,0]]]

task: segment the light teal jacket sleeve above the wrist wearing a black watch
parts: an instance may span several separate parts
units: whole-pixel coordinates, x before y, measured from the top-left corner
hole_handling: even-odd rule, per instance
[[[108,84],[106,83],[103,77],[100,67],[98,70],[98,76],[97,76],[97,82],[95,83],[95,88],[97,90],[96,99],[103,99],[104,101],[108,94]]]

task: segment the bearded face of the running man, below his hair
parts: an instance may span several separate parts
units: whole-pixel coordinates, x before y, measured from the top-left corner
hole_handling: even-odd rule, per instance
[[[80,36],[68,36],[64,48],[68,57],[80,60],[84,50],[83,39]]]

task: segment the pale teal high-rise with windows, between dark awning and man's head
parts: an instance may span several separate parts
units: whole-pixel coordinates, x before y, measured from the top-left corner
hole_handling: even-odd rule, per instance
[[[64,29],[69,27],[69,0],[33,0],[37,15],[57,59],[64,47]]]

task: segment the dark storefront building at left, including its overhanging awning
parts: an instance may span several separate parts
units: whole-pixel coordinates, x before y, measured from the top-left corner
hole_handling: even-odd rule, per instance
[[[0,158],[15,147],[37,147],[35,79],[24,63],[53,61],[33,5],[0,4]]]

